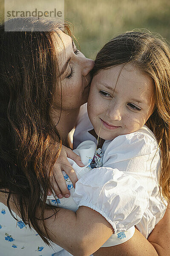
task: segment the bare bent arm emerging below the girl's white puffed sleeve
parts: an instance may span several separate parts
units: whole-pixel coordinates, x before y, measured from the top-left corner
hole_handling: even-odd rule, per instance
[[[60,209],[56,216],[45,220],[53,242],[74,256],[89,256],[112,235],[113,228],[98,212],[79,207],[77,212]],[[46,217],[53,212],[46,211]],[[40,223],[42,230],[43,225]],[[43,230],[44,231],[44,230]]]

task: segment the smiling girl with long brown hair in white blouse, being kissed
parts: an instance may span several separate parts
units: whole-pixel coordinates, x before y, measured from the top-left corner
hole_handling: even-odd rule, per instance
[[[85,140],[75,150],[85,168],[70,162],[81,177],[75,194],[64,177],[78,207],[95,209],[112,225],[116,239],[112,236],[104,247],[126,241],[125,232],[133,225],[147,238],[164,215],[161,189],[168,200],[170,175],[169,67],[167,45],[139,31],[114,38],[96,57],[88,115],[81,111],[74,134],[75,148]],[[101,151],[95,153],[96,144],[102,157]],[[94,166],[103,167],[86,174]],[[52,200],[77,210],[73,198]]]

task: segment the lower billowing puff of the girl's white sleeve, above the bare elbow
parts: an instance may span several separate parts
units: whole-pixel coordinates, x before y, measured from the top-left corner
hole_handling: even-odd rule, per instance
[[[73,198],[78,207],[90,207],[103,215],[114,233],[119,233],[141,220],[149,195],[138,180],[126,172],[100,167],[78,180]]]

